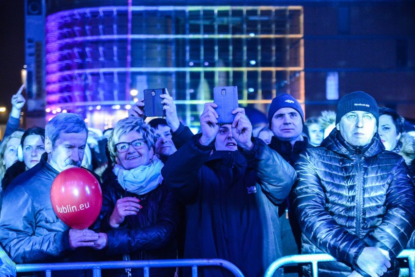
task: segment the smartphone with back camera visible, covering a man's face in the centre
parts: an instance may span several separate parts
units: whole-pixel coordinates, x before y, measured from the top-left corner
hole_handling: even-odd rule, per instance
[[[238,87],[214,87],[213,102],[218,105],[218,123],[232,123],[235,115],[232,111],[238,107]]]

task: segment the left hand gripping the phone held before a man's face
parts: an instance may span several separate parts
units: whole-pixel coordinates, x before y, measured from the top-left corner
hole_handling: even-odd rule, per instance
[[[200,116],[202,136],[199,141],[202,145],[209,145],[219,132],[218,114],[215,111],[217,106],[218,105],[215,103],[206,103],[205,109]]]

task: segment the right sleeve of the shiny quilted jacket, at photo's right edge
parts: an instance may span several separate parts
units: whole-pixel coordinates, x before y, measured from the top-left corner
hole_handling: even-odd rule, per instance
[[[403,159],[386,191],[385,206],[382,223],[364,239],[371,246],[389,249],[391,259],[394,259],[405,248],[415,226],[414,185]]]

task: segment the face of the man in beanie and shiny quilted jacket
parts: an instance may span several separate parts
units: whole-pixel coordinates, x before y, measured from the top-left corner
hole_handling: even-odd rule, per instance
[[[344,140],[354,146],[369,144],[377,130],[373,114],[364,111],[348,112],[336,127]]]

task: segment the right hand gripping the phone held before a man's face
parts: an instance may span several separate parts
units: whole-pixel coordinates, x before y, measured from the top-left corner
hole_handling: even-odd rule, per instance
[[[245,150],[252,149],[252,124],[245,116],[245,109],[236,108],[232,111],[232,114],[236,114],[232,122],[232,137],[239,147]]]

